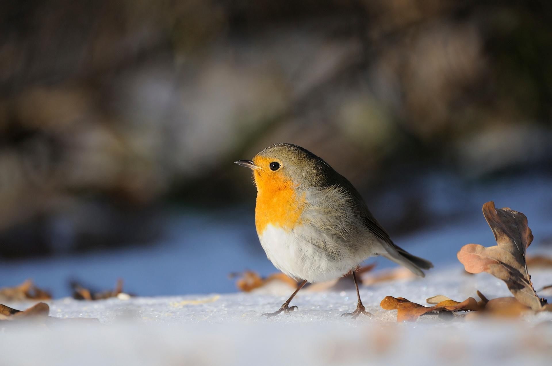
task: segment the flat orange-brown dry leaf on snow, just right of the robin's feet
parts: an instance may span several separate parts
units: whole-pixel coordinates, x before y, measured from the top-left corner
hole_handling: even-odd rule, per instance
[[[431,298],[430,298],[431,299]],[[397,321],[416,321],[423,314],[433,311],[460,311],[460,310],[480,310],[479,305],[474,298],[468,298],[459,303],[454,300],[443,300],[434,306],[423,306],[413,303],[405,298],[394,298],[386,296],[381,300],[381,308],[385,310],[397,310]]]

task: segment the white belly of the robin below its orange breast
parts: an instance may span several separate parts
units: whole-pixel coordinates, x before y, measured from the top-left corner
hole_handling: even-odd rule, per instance
[[[305,226],[286,232],[268,225],[262,235],[259,235],[259,240],[268,259],[278,270],[308,282],[330,281],[342,277],[370,256],[359,253],[344,256],[339,261],[331,260],[319,247],[304,239],[312,238],[312,235],[315,235],[312,229]]]

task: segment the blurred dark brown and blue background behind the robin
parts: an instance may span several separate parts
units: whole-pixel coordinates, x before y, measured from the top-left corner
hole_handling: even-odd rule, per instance
[[[274,272],[232,163],[277,142],[436,263],[494,243],[490,200],[552,244],[550,2],[4,0],[0,27],[0,287]]]

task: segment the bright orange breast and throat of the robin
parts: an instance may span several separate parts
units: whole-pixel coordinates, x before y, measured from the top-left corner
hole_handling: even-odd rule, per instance
[[[305,206],[305,193],[298,195],[293,183],[280,174],[255,171],[257,205],[255,225],[262,235],[267,225],[290,232],[301,224],[300,216]]]

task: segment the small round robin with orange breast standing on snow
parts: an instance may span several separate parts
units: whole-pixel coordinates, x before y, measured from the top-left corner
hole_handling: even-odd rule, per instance
[[[369,257],[384,256],[418,276],[433,264],[391,240],[360,193],[344,176],[309,150],[277,143],[237,165],[253,171],[257,187],[255,226],[261,246],[279,271],[299,286],[267,317],[298,309],[291,300],[307,282],[352,274],[357,308],[351,316],[370,316],[360,299],[356,272]]]

